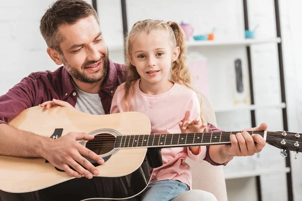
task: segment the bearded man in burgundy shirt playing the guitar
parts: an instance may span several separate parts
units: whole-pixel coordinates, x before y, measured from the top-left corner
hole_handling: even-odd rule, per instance
[[[68,183],[69,187],[73,186],[69,191],[66,190],[67,184],[62,183],[49,191],[36,193],[16,195],[1,192],[3,201],[79,200],[85,197],[81,193],[97,194],[95,191],[102,184],[97,184],[98,177],[93,175],[99,172],[82,155],[100,165],[104,164],[104,160],[76,142],[81,139],[91,140],[93,137],[72,132],[52,140],[17,130],[7,123],[23,110],[53,98],[64,100],[82,112],[108,114],[115,88],[126,79],[125,66],[109,59],[97,13],[85,1],[58,0],[42,17],[40,31],[47,43],[48,55],[57,65],[63,66],[54,72],[32,73],[0,96],[0,154],[43,157],[68,175],[79,179],[72,179]],[[266,125],[262,124],[257,129],[266,130]],[[257,145],[254,145],[254,140]],[[264,145],[259,135],[252,138],[246,132],[239,133],[236,137],[232,136],[232,146],[211,148],[206,160],[215,165],[223,164],[234,155],[253,155],[261,151]],[[81,189],[82,192],[79,192]],[[56,195],[55,192],[59,193]]]

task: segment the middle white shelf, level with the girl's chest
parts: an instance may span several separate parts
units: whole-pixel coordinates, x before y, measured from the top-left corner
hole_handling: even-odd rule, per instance
[[[232,112],[232,111],[239,111],[239,110],[256,110],[256,109],[269,109],[269,108],[285,108],[285,103],[280,104],[267,104],[267,105],[240,105],[240,106],[230,106],[230,107],[221,107],[215,108],[215,113],[221,112]]]

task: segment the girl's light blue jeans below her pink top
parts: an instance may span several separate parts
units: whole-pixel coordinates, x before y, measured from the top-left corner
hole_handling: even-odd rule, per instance
[[[126,201],[170,201],[185,192],[189,186],[176,180],[163,180],[151,183],[139,195]]]

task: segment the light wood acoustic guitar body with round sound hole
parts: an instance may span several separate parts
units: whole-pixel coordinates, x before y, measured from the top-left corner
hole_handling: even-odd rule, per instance
[[[150,134],[149,119],[141,113],[90,115],[63,107],[49,110],[33,107],[23,111],[10,125],[46,137],[69,132],[94,135],[96,141],[80,143],[103,157],[105,164],[97,166],[100,174],[93,179],[74,178],[43,158],[0,155],[0,190],[6,195],[31,194],[37,200],[125,199],[141,192],[153,172],[152,161],[146,157],[147,148],[114,149],[110,143],[120,135]],[[93,143],[102,136],[108,142],[94,148]]]

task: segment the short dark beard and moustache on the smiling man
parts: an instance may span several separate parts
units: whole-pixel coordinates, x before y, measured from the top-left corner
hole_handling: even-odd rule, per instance
[[[103,69],[100,69],[100,70],[103,70],[102,75],[100,77],[92,77],[92,76],[87,75],[85,72],[82,72],[81,70],[79,70],[77,68],[71,67],[68,64],[68,62],[66,61],[66,59],[64,58],[64,56],[61,56],[62,63],[64,65],[65,69],[67,70],[67,72],[71,75],[71,77],[74,78],[74,79],[77,79],[81,82],[86,82],[86,83],[98,82],[98,81],[101,81],[102,79],[104,79],[106,77],[107,72],[108,72],[108,64],[109,64],[108,57],[105,60],[105,56],[101,55],[101,58],[98,61],[87,61],[81,66],[81,69],[84,69],[86,66],[95,64],[95,63],[99,62],[102,59],[104,61]]]

